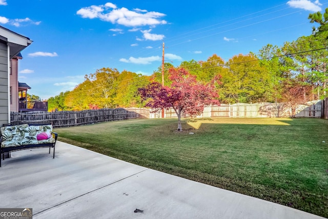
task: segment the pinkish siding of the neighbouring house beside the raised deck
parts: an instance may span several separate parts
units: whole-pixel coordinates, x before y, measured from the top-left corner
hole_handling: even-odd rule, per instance
[[[11,104],[10,111],[18,112],[18,59],[12,58],[10,60],[11,74],[10,74],[10,87],[11,87]]]

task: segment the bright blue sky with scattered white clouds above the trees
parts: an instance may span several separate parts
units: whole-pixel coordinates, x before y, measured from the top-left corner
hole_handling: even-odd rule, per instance
[[[0,0],[0,25],[29,37],[19,82],[43,99],[72,90],[108,67],[150,75],[165,59],[206,61],[258,52],[310,35],[309,13],[328,0]]]

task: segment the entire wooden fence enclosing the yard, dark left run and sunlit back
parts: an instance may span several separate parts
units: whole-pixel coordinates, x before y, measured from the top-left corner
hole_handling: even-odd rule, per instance
[[[325,100],[328,101],[328,98]],[[328,118],[328,104],[312,101],[296,107],[295,117]],[[328,102],[327,102],[328,103]],[[11,122],[49,122],[53,127],[69,127],[98,122],[126,120],[129,118],[161,118],[161,112],[151,113],[146,108],[118,108],[84,111],[57,112],[11,112]],[[197,117],[291,117],[291,106],[287,103],[221,104],[205,107]],[[176,118],[173,109],[165,110],[166,118]],[[188,117],[188,115],[182,115]]]

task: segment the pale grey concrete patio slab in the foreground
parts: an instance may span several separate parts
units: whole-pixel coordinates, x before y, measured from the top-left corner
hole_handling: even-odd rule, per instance
[[[0,208],[32,208],[33,218],[323,218],[62,142],[54,159],[48,152],[2,161]]]

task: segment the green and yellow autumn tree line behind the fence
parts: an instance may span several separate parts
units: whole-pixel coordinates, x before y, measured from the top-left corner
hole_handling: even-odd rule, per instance
[[[224,104],[256,102],[303,103],[327,96],[328,8],[309,15],[315,24],[309,36],[282,46],[265,45],[258,52],[237,54],[224,61],[213,54],[207,61],[184,61],[179,66],[208,83],[220,77],[219,101]],[[165,84],[169,85],[165,63]],[[138,89],[151,82],[161,83],[161,66],[151,76],[101,68],[86,75],[72,91],[50,97],[49,110],[85,110],[142,107]]]

